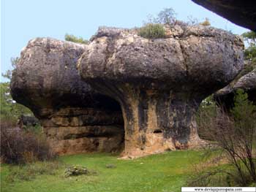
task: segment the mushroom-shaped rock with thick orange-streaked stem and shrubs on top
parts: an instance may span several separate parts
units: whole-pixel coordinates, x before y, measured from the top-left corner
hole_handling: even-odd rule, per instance
[[[145,39],[136,30],[99,28],[78,61],[83,79],[121,104],[124,155],[199,145],[200,101],[243,65],[243,42],[226,31],[175,26],[168,34]]]

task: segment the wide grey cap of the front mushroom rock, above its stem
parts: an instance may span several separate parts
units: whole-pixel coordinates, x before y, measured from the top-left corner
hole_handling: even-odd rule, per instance
[[[165,39],[145,39],[136,29],[99,28],[78,61],[81,76],[151,88],[202,83],[217,90],[241,70],[241,37],[204,26],[167,30]]]

